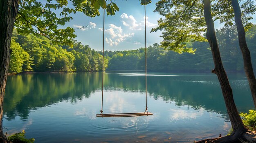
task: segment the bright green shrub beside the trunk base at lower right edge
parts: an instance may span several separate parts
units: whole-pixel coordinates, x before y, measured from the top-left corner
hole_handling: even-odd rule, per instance
[[[240,113],[240,117],[247,128],[256,131],[256,110],[249,110],[249,114]]]

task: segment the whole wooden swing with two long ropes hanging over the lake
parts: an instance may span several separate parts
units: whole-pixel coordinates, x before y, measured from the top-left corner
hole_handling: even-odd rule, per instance
[[[102,59],[102,97],[101,97],[101,114],[96,114],[96,117],[135,117],[135,116],[148,116],[153,115],[153,113],[148,112],[147,104],[147,48],[146,48],[146,5],[144,5],[144,20],[145,20],[145,79],[146,79],[146,110],[144,112],[136,113],[110,113],[103,114],[103,75],[104,75],[104,30],[105,30],[105,10],[103,12],[103,59]]]

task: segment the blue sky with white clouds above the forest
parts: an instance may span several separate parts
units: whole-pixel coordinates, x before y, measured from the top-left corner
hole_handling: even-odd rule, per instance
[[[162,41],[161,31],[150,30],[157,26],[157,20],[161,18],[155,10],[155,3],[146,5],[146,45],[153,45]],[[144,6],[139,0],[115,0],[119,11],[114,16],[105,13],[105,51],[133,50],[145,47],[144,32]],[[73,20],[65,26],[73,27],[77,37],[75,40],[83,45],[89,45],[92,49],[102,51],[103,48],[103,9],[99,9],[100,16],[90,18],[81,12],[70,16]],[[255,17],[254,17],[254,24]],[[81,28],[86,26],[85,28]],[[215,28],[220,29],[223,24],[215,22]]]

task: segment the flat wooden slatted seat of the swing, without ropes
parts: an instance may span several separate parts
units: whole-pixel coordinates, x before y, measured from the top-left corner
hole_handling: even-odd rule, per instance
[[[153,115],[151,112],[96,114],[96,117],[135,117]]]

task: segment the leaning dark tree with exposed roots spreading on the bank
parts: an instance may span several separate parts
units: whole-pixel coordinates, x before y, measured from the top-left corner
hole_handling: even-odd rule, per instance
[[[232,89],[229,85],[227,74],[222,65],[218,42],[215,35],[213,19],[211,15],[211,0],[203,0],[203,3],[204,18],[207,25],[206,37],[211,46],[211,53],[213,55],[213,61],[215,66],[214,70],[212,70],[212,73],[215,73],[220,81],[220,87],[234,132],[229,136],[224,136],[216,139],[205,139],[195,143],[256,143],[256,134],[245,128],[245,125],[243,124],[242,119],[238,114],[236,104],[233,99]]]

